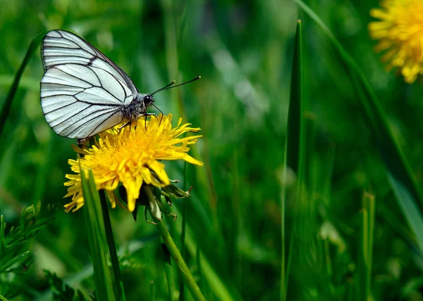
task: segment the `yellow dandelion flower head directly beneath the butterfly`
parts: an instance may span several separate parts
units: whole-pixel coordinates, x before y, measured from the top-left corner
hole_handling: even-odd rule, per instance
[[[72,202],[65,205],[66,212],[76,211],[84,205],[80,169],[87,172],[92,169],[97,190],[104,189],[111,200],[112,207],[116,207],[116,198],[113,191],[121,183],[128,196],[128,210],[135,209],[135,201],[140,196],[142,184],[164,187],[171,182],[164,170],[164,163],[159,160],[185,160],[191,164],[203,165],[190,155],[188,147],[202,137],[189,136],[180,138],[186,132],[199,132],[200,128],[189,127],[183,124],[182,118],[178,125],[172,128],[172,115],[152,117],[147,121],[140,118],[131,126],[119,126],[99,134],[98,139],[90,148],[76,148],[84,157],[78,160],[68,160],[75,174],[66,174],[65,186],[72,196]]]

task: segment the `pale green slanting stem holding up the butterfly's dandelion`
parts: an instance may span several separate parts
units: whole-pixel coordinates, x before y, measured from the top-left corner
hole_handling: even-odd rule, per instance
[[[147,198],[149,198],[150,203],[156,202],[156,199],[154,198],[152,188],[150,186],[145,185],[144,191],[147,195]],[[185,281],[186,286],[188,286],[188,289],[191,292],[192,297],[194,297],[195,300],[201,300],[205,301],[206,299],[202,295],[200,288],[197,286],[197,283],[194,280],[194,277],[192,277],[190,269],[188,269],[187,264],[185,264],[185,261],[183,260],[183,257],[180,255],[180,252],[178,250],[178,247],[176,247],[175,242],[173,241],[173,238],[171,234],[168,232],[166,225],[162,220],[154,218],[154,222],[157,223],[157,229],[160,232],[161,238],[163,239],[163,242],[167,246],[169,252],[171,253],[171,257],[175,261],[176,265],[181,271],[181,274],[183,276],[183,280]]]

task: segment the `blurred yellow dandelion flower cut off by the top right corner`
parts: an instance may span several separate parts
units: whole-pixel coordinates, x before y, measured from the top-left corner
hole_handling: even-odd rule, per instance
[[[412,84],[423,73],[423,1],[383,0],[370,15],[380,20],[369,23],[369,32],[379,40],[376,51],[385,51],[387,70],[399,68]]]

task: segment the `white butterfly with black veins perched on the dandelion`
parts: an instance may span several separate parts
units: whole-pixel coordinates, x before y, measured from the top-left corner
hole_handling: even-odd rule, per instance
[[[152,94],[141,94],[118,65],[85,39],[66,30],[47,32],[41,56],[44,117],[56,134],[80,141],[121,122],[130,124],[141,116],[155,115],[147,113],[150,105],[157,108],[154,94],[182,85],[171,87],[173,81]]]

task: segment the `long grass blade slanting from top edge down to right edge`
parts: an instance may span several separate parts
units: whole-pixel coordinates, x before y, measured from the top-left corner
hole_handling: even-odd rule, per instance
[[[381,107],[376,94],[362,74],[357,63],[343,49],[329,28],[324,25],[321,19],[304,2],[295,0],[295,3],[321,27],[338,50],[341,58],[343,58],[346,71],[350,75],[357,94],[360,96],[360,103],[362,104],[364,114],[369,124],[371,124],[376,145],[384,161],[386,177],[396,195],[398,205],[415,235],[415,244],[419,248],[420,256],[423,256],[422,191],[417,185],[415,177],[410,172],[410,166],[407,160],[405,160],[400,146],[393,137],[384,109]]]

